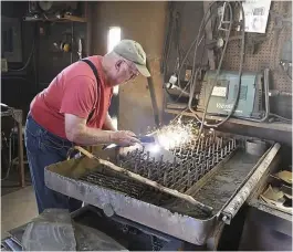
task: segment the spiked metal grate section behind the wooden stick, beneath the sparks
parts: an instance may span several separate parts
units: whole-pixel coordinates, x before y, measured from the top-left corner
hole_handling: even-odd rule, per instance
[[[171,148],[169,156],[174,156],[172,162],[163,161],[163,157],[161,160],[151,159],[149,151],[135,149],[119,156],[118,165],[161,186],[186,192],[237,148],[234,141],[207,135]]]

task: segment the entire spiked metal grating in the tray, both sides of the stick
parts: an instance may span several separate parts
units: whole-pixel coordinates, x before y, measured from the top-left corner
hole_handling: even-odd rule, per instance
[[[234,138],[219,137],[212,132],[171,148],[169,151],[175,157],[172,162],[165,161],[163,156],[160,159],[151,158],[149,151],[143,148],[119,156],[118,165],[185,193],[237,147]],[[107,168],[87,174],[80,179],[157,206],[174,200],[174,197],[167,193]]]

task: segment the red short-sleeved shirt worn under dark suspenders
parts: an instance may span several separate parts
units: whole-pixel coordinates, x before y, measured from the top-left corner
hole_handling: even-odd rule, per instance
[[[102,128],[113,94],[102,69],[102,59],[103,56],[87,57],[97,69],[100,91],[92,69],[85,62],[75,62],[34,97],[31,103],[34,120],[50,133],[66,138],[64,114],[88,118],[94,109],[87,126]]]

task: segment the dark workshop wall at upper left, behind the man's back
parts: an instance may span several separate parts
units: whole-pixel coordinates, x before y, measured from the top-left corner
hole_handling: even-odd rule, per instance
[[[1,101],[9,106],[23,111],[24,118],[36,93],[48,87],[55,75],[71,62],[77,61],[77,40],[85,40],[86,23],[79,22],[25,22],[28,2],[1,2],[1,17],[18,18],[21,22],[22,62],[9,63],[9,69],[21,69],[33,56],[23,71],[2,73]],[[54,46],[61,42],[72,42],[73,53],[62,52]],[[65,35],[67,34],[67,36]],[[33,46],[34,44],[34,46]]]

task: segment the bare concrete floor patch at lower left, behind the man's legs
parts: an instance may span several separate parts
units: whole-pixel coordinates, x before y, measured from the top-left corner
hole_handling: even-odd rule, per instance
[[[1,239],[7,231],[29,222],[38,216],[32,186],[1,197]]]

